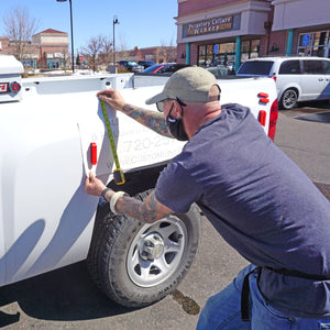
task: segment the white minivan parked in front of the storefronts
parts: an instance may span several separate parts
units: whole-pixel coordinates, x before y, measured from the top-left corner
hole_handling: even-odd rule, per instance
[[[272,77],[279,107],[299,101],[330,99],[330,59],[323,57],[262,57],[244,62],[238,76]]]

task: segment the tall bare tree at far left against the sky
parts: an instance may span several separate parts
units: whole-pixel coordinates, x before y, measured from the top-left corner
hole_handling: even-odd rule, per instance
[[[4,31],[11,41],[11,54],[22,61],[31,54],[31,37],[35,34],[37,22],[30,18],[26,9],[18,6],[3,16]]]

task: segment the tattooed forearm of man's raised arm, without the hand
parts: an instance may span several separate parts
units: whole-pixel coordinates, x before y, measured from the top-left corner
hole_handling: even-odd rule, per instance
[[[166,125],[163,113],[132,105],[124,105],[121,111],[156,133],[167,138],[173,138]]]

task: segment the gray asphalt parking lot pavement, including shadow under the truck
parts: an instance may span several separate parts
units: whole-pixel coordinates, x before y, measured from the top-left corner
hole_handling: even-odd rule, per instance
[[[280,111],[275,143],[330,199],[329,117],[329,103]],[[0,328],[195,329],[207,298],[246,264],[204,219],[204,237],[190,272],[162,301],[142,309],[116,305],[96,288],[81,262],[0,288]]]

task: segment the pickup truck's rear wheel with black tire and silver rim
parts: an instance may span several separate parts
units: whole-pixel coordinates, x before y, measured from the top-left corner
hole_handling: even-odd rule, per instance
[[[138,194],[143,200],[152,190]],[[87,265],[112,300],[143,307],[173,292],[183,280],[201,238],[198,208],[154,223],[113,216],[107,204],[96,220]]]

